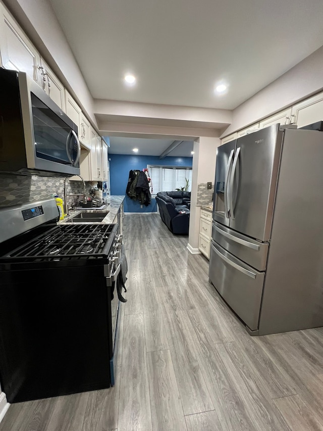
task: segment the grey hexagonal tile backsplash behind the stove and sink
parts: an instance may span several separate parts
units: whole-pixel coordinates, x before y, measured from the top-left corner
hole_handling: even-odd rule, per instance
[[[43,200],[52,194],[64,199],[64,178],[0,174],[0,207]],[[67,194],[82,197],[82,181],[67,181]],[[74,198],[68,200],[70,205]]]

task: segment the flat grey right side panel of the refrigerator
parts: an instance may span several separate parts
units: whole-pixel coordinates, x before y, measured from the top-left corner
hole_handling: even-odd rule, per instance
[[[323,325],[323,132],[286,130],[259,335]]]

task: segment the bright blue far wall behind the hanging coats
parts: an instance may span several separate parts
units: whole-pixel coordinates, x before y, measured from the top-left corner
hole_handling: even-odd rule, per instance
[[[192,157],[165,157],[159,159],[158,156],[137,156],[124,154],[109,154],[110,160],[110,187],[111,195],[126,195],[129,171],[146,168],[147,165],[162,166],[192,166]],[[153,186],[153,184],[152,184]],[[128,196],[124,201],[124,211],[126,213],[151,213],[157,211],[156,200],[151,199],[151,204],[140,208],[138,201],[133,201]]]

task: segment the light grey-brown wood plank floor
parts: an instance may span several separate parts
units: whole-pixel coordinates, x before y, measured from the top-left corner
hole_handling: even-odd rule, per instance
[[[323,430],[323,328],[250,337],[187,241],[125,217],[115,387],[13,404],[0,431]]]

